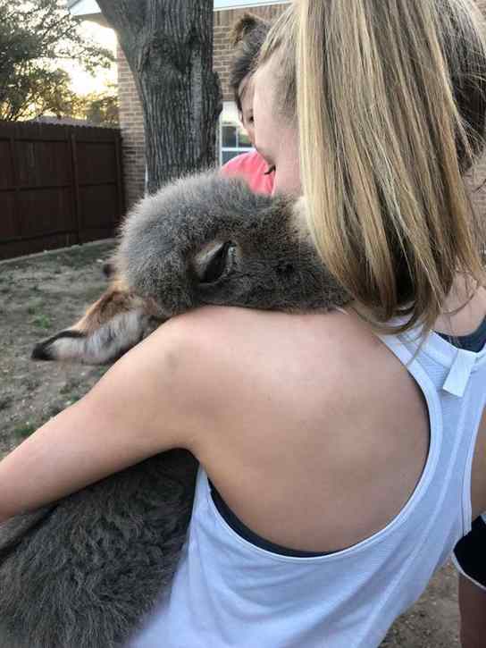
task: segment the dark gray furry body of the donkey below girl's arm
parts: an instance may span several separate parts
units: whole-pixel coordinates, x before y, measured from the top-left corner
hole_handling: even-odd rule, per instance
[[[197,462],[164,452],[0,533],[0,648],[126,644],[170,584]]]

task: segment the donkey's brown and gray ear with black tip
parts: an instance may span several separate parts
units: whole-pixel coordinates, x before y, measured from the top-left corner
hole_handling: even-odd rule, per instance
[[[120,358],[155,330],[161,320],[146,300],[113,282],[80,321],[39,342],[34,360],[107,365]]]

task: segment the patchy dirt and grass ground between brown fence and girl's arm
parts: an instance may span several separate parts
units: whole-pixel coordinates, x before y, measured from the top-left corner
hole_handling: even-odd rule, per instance
[[[106,245],[0,266],[0,454],[80,400],[108,369],[30,363],[29,354],[99,298],[107,283],[101,260],[112,252]]]

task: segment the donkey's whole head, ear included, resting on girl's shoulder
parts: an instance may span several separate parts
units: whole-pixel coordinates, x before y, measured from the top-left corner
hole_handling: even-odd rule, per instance
[[[207,304],[302,311],[347,301],[309,240],[302,201],[217,173],[138,203],[114,264],[112,287],[34,358],[113,361],[164,320]]]

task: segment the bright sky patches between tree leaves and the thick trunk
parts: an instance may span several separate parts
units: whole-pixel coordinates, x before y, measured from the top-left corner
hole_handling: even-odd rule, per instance
[[[101,27],[95,22],[83,21],[81,30],[100,45],[111,49],[113,54],[116,53],[116,37],[113,29]],[[111,70],[101,70],[96,73],[95,77],[84,72],[80,65],[74,62],[62,63],[61,67],[71,76],[71,89],[79,95],[103,92],[106,83],[116,83],[116,64],[114,63]]]

